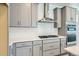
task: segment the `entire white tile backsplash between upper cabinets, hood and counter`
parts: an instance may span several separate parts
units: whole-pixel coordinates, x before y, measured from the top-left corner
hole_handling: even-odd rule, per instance
[[[17,35],[20,36],[22,34],[33,35],[33,36],[39,36],[39,35],[57,35],[58,30],[53,27],[53,23],[38,23],[37,28],[16,28],[16,27],[10,27],[10,35]],[[18,35],[18,36],[19,36]],[[25,36],[26,36],[25,35]],[[23,35],[24,36],[24,35]]]

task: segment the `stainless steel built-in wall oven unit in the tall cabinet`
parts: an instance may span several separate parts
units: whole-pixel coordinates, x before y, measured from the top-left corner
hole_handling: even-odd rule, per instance
[[[67,24],[67,44],[76,44],[76,24]]]

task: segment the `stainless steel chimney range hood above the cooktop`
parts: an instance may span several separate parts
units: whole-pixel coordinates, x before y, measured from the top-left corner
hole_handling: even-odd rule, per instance
[[[49,18],[47,16],[47,14],[48,14],[48,7],[49,7],[48,3],[44,3],[44,16],[38,22],[54,22],[54,20],[52,18]]]

